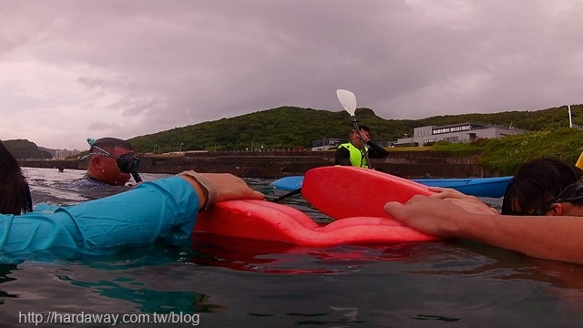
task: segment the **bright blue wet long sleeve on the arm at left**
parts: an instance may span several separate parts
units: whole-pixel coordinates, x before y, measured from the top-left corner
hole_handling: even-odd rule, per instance
[[[189,238],[198,212],[199,197],[187,180],[143,182],[132,190],[53,213],[0,215],[0,250],[98,254],[132,243]]]

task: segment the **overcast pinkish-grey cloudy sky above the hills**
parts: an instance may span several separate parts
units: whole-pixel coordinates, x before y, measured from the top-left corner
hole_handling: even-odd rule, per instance
[[[88,149],[280,106],[583,103],[581,0],[0,0],[0,139]],[[347,114],[348,115],[348,114]]]

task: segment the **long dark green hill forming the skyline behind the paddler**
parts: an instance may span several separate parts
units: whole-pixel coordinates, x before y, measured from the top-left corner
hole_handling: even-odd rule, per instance
[[[583,123],[583,105],[571,106],[571,110],[582,118]],[[423,119],[384,119],[376,116],[372,109],[358,108],[356,117],[359,124],[372,128],[373,138],[379,141],[404,138],[404,134],[411,135],[413,129],[418,127],[462,122],[514,126],[532,131],[568,127],[566,106],[537,111],[445,115]],[[173,128],[130,138],[128,141],[139,152],[155,150],[156,153],[179,149],[245,150],[261,146],[265,149],[309,149],[314,140],[348,138],[351,128],[352,118],[345,111],[281,107]]]

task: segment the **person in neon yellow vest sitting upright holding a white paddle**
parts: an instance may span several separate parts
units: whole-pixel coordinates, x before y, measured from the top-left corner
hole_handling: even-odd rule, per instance
[[[361,138],[366,144],[365,149],[361,144]],[[334,156],[335,163],[336,165],[369,168],[370,164],[366,161],[364,151],[368,154],[369,159],[384,159],[389,156],[386,149],[371,140],[371,129],[367,126],[360,126],[360,135],[353,129],[350,134],[350,142],[338,146]]]

